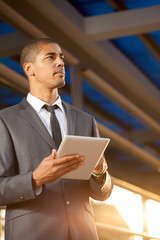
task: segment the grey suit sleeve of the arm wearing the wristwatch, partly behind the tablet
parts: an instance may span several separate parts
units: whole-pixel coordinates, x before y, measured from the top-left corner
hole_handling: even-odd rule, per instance
[[[99,137],[98,128],[96,122],[93,118],[92,124],[92,137]],[[90,197],[96,200],[104,201],[106,200],[113,189],[113,180],[108,171],[104,173],[103,182],[101,184],[98,183],[94,178],[90,178],[89,180],[89,191]]]

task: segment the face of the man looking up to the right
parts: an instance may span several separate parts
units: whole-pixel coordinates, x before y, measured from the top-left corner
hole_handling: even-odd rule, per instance
[[[60,88],[65,85],[64,56],[58,44],[42,45],[32,63],[34,81],[44,88]]]

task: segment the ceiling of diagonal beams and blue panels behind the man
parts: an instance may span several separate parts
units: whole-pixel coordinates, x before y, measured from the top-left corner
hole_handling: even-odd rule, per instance
[[[160,195],[159,13],[160,0],[0,0],[0,108],[29,91],[21,48],[52,37],[66,61],[60,95],[111,139],[115,183]]]

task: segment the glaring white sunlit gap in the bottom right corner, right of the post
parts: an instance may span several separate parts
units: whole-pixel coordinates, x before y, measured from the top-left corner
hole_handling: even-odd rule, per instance
[[[160,203],[148,200],[146,211],[149,234],[160,238]]]

